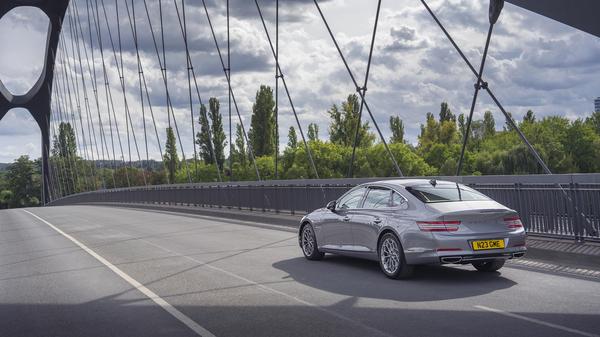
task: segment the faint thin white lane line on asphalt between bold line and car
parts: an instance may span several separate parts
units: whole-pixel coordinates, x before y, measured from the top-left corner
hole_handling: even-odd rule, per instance
[[[184,259],[187,259],[187,260],[190,260],[192,262],[198,263],[201,266],[205,266],[205,267],[210,268],[212,270],[215,270],[215,271],[221,272],[223,274],[229,275],[229,276],[231,276],[233,278],[236,278],[236,279],[238,279],[240,281],[246,282],[246,283],[248,283],[250,285],[259,287],[259,288],[263,289],[266,292],[271,292],[271,293],[274,293],[274,294],[286,297],[286,298],[288,298],[290,300],[293,300],[293,301],[296,301],[296,302],[298,302],[300,304],[306,305],[308,307],[311,307],[311,308],[314,308],[316,310],[319,310],[319,311],[321,311],[323,313],[326,313],[326,314],[329,314],[331,316],[334,316],[334,317],[336,317],[336,318],[338,318],[338,319],[340,319],[342,321],[346,321],[346,322],[348,322],[350,324],[358,325],[358,326],[362,327],[363,329],[368,330],[370,332],[369,336],[387,336],[387,337],[392,337],[393,336],[393,335],[390,335],[390,334],[388,334],[388,333],[386,333],[384,331],[381,331],[381,330],[379,330],[377,328],[374,328],[372,326],[366,325],[366,324],[364,324],[364,323],[362,323],[362,322],[360,322],[360,321],[358,321],[356,319],[352,319],[352,318],[346,317],[346,316],[344,316],[342,314],[339,314],[339,313],[337,313],[335,311],[329,310],[327,308],[323,308],[323,307],[321,307],[319,305],[316,305],[316,304],[313,304],[311,302],[307,302],[307,301],[305,301],[305,300],[303,300],[301,298],[298,298],[298,297],[296,297],[294,295],[290,295],[290,294],[285,293],[283,291],[271,288],[269,286],[266,286],[264,284],[258,283],[256,281],[253,281],[253,280],[251,280],[249,278],[246,278],[244,276],[241,276],[241,275],[238,275],[236,273],[230,272],[228,270],[225,270],[225,269],[219,268],[217,266],[214,266],[214,265],[212,265],[210,263],[204,262],[202,260],[196,259],[196,258],[191,257],[191,256],[187,256],[187,255],[181,254],[179,252],[173,251],[171,249],[168,249],[166,247],[163,247],[163,246],[161,246],[159,244],[150,242],[150,241],[145,240],[145,239],[138,239],[138,240],[142,241],[142,242],[145,242],[145,243],[147,243],[149,245],[152,245],[152,246],[154,246],[154,247],[156,247],[158,249],[161,249],[161,250],[163,250],[163,251],[165,251],[167,253],[178,255],[178,256],[180,256],[180,257],[182,257]]]

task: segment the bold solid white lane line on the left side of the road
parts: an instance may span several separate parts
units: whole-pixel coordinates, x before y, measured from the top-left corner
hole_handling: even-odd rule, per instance
[[[93,250],[91,250],[90,248],[88,248],[83,243],[79,242],[77,239],[75,239],[71,235],[63,232],[60,228],[54,226],[53,224],[51,224],[48,221],[40,218],[39,216],[37,216],[37,215],[35,215],[35,214],[27,211],[27,210],[23,210],[23,211],[25,211],[26,213],[29,213],[30,215],[32,215],[33,217],[35,217],[39,221],[41,221],[41,222],[45,223],[46,225],[50,226],[50,228],[54,229],[55,231],[57,231],[59,234],[61,234],[65,238],[71,240],[71,242],[73,242],[74,244],[76,244],[77,246],[79,246],[86,253],[90,254],[92,257],[94,257],[96,260],[98,260],[100,263],[102,263],[103,265],[105,265],[106,267],[108,267],[115,274],[119,275],[123,280],[125,280],[127,283],[129,283],[132,287],[136,288],[142,294],[146,295],[146,297],[148,297],[149,299],[151,299],[154,303],[158,304],[161,308],[163,308],[166,312],[168,312],[169,314],[171,314],[171,316],[173,316],[176,319],[178,319],[181,323],[185,324],[185,326],[187,326],[188,328],[190,328],[197,335],[202,336],[202,337],[215,337],[215,335],[213,335],[210,331],[206,330],[205,328],[203,328],[202,326],[200,326],[200,324],[196,323],[194,320],[192,320],[191,318],[189,318],[188,316],[186,316],[184,313],[182,313],[181,311],[177,310],[174,306],[172,306],[169,302],[165,301],[163,298],[161,298],[160,296],[158,296],[155,292],[153,292],[152,290],[146,288],[143,284],[141,284],[140,282],[136,281],[133,277],[127,275],[121,269],[119,269],[118,267],[114,266],[112,263],[108,262],[108,260],[106,260],[102,256],[98,255],[96,252],[94,252]]]

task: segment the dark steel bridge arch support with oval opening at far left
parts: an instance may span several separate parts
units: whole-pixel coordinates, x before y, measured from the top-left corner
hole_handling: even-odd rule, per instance
[[[29,6],[40,9],[49,19],[46,53],[42,73],[33,87],[24,95],[13,95],[0,80],[0,120],[14,108],[24,108],[33,116],[42,134],[42,203],[49,201],[50,189],[50,99],[54,78],[54,61],[63,18],[69,0],[2,0],[0,19],[16,7]],[[1,48],[10,48],[2,46]]]

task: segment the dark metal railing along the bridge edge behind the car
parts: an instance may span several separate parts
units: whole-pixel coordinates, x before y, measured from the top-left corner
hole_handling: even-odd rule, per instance
[[[516,210],[529,233],[600,240],[600,174],[436,178],[466,184]],[[377,180],[382,179],[159,185],[74,194],[49,205],[173,204],[303,214],[323,207],[358,184]]]

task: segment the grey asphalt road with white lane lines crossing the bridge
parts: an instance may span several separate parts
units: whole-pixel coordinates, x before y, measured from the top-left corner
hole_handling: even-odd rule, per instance
[[[0,336],[596,336],[600,282],[307,261],[289,229],[70,206],[0,211]]]

